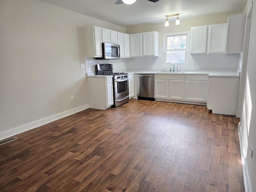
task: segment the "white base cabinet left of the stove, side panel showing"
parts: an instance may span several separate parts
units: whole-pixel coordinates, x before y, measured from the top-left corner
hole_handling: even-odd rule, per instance
[[[90,108],[105,110],[114,104],[113,78],[88,76],[88,96]]]

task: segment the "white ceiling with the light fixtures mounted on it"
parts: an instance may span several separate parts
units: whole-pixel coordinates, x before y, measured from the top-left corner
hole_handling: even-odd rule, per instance
[[[117,0],[40,0],[119,26],[165,22],[166,15],[179,13],[182,19],[244,10],[247,0],[137,0],[132,5]],[[170,21],[176,18],[168,18]]]

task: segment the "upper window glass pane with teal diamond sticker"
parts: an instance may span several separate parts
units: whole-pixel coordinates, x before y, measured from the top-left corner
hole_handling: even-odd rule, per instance
[[[168,36],[166,49],[186,49],[187,36]]]

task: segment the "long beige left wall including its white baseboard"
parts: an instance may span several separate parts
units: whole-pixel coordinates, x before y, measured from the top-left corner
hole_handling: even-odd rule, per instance
[[[125,32],[37,0],[0,1],[0,140],[88,108],[87,25]]]

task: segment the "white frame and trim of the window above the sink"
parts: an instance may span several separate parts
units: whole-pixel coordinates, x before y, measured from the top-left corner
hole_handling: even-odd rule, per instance
[[[163,58],[163,68],[170,68],[172,67],[172,65],[167,64],[166,63],[166,40],[167,37],[170,36],[187,36],[187,40],[186,40],[186,49],[185,49],[185,63],[184,64],[179,64],[179,63],[175,63],[175,65],[177,66],[182,66],[183,68],[187,68],[188,67],[188,54],[189,54],[189,42],[190,42],[190,31],[185,31],[185,32],[176,32],[176,33],[165,33],[163,34],[163,53],[164,53],[164,58]],[[177,50],[184,50],[184,49],[177,49]],[[168,50],[169,51],[169,50]]]

